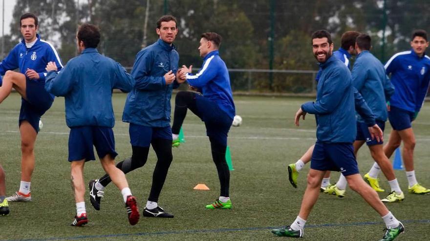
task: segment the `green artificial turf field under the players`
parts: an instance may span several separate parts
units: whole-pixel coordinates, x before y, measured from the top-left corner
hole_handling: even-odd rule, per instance
[[[125,98],[126,94],[113,95],[117,161],[131,154],[128,124],[121,122]],[[232,210],[204,208],[218,197],[219,183],[204,124],[189,112],[183,125],[186,143],[173,149],[172,166],[159,200],[162,207],[175,215],[173,219],[141,217],[137,225],[130,226],[122,196],[111,184],[105,190],[100,211],[93,209],[86,196],[89,223],[85,227],[71,227],[75,203],[67,162],[69,129],[64,120],[64,98],[57,98],[43,116],[43,130],[36,143],[36,168],[31,184],[33,201],[9,204],[11,214],[0,217],[0,241],[287,240],[273,236],[270,230],[289,225],[299,212],[309,166],[301,171],[297,189],[289,184],[286,167],[296,162],[315,141],[314,116],[301,121],[300,128],[294,126],[294,114],[308,100],[235,96],[237,114],[242,116],[243,123],[229,133],[235,168],[230,185]],[[19,189],[20,102],[19,95],[12,93],[0,105],[0,163],[6,172],[7,195]],[[430,187],[429,120],[427,103],[413,124],[417,139],[415,172],[418,181],[426,187]],[[390,131],[387,123],[386,139]],[[149,195],[155,162],[155,153],[151,150],[145,167],[127,174],[140,210]],[[365,146],[358,154],[358,163],[362,174],[373,163]],[[405,192],[405,201],[387,206],[406,226],[406,232],[396,240],[430,240],[430,195],[409,194],[405,172],[396,170],[395,173]],[[103,174],[99,161],[86,163],[86,182]],[[336,182],[338,177],[339,173],[334,173],[331,182]],[[380,178],[386,189],[380,193],[383,198],[388,194],[389,185],[382,173]],[[211,190],[193,190],[199,183]],[[343,199],[321,194],[306,225],[304,241],[373,241],[384,234],[382,219],[349,188]]]

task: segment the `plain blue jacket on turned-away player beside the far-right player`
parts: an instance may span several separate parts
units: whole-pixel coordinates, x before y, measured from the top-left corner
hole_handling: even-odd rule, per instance
[[[394,93],[394,87],[387,78],[381,61],[369,51],[363,51],[357,56],[351,75],[352,85],[366,100],[376,120],[387,121],[386,102]],[[364,122],[360,115],[357,118],[359,122]]]

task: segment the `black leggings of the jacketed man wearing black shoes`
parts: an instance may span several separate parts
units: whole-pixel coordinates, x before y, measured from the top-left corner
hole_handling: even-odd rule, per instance
[[[152,174],[151,192],[148,201],[158,202],[158,197],[166,181],[169,167],[172,164],[172,141],[167,139],[153,139],[151,145],[158,160],[155,165],[154,173]],[[139,167],[143,167],[148,160],[149,147],[131,146],[131,148],[133,150],[131,158],[126,158],[116,165],[116,167],[121,169],[125,174]],[[103,186],[107,186],[111,181],[108,174],[100,178],[100,184]]]

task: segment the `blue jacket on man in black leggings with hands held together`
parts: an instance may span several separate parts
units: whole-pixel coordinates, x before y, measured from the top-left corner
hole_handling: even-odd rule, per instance
[[[172,89],[176,80],[166,85],[164,74],[178,70],[179,54],[174,45],[161,39],[136,55],[131,76],[136,81],[127,95],[123,121],[146,127],[170,126]]]

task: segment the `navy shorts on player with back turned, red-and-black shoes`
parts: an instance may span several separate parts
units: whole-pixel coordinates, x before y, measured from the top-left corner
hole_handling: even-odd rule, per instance
[[[95,160],[94,148],[99,158],[110,154],[115,158],[115,138],[110,127],[83,126],[70,128],[69,135],[69,162]]]

